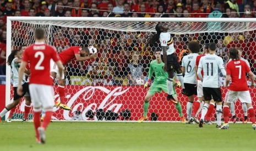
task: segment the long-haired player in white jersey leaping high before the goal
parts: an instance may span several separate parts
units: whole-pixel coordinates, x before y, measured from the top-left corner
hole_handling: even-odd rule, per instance
[[[175,98],[172,96],[172,81],[173,81],[173,72],[176,71],[177,78],[179,82],[181,82],[182,86],[182,94],[186,95],[187,92],[184,87],[184,79],[182,75],[182,69],[179,65],[177,56],[175,56],[175,48],[173,45],[173,39],[171,37],[171,33],[168,33],[168,26],[164,23],[158,23],[155,26],[156,33],[150,37],[148,42],[146,43],[146,47],[150,45],[150,47],[154,46],[155,43],[160,40],[162,52],[161,59],[165,63],[164,71],[168,73],[167,78],[167,100],[176,103]]]

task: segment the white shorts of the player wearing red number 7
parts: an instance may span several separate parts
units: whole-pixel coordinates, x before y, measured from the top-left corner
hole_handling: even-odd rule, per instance
[[[241,103],[252,103],[252,98],[250,97],[249,91],[231,91],[231,90],[227,91],[224,102],[227,102],[227,103],[236,102],[237,99],[239,99]]]

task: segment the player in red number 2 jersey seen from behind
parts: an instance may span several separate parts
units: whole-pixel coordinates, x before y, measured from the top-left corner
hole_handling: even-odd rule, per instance
[[[30,62],[30,96],[34,104],[34,126],[36,131],[36,141],[38,143],[45,143],[45,130],[50,123],[52,116],[52,108],[54,106],[53,100],[53,85],[50,78],[50,60],[56,62],[59,75],[62,75],[63,66],[59,60],[56,50],[50,45],[45,44],[45,31],[42,28],[36,28],[34,32],[35,43],[30,45],[24,51],[23,61],[21,61],[19,71],[19,86],[17,89],[18,95],[23,94],[23,87],[21,86],[22,76],[25,67]],[[40,114],[42,109],[46,112],[42,125],[40,121]]]

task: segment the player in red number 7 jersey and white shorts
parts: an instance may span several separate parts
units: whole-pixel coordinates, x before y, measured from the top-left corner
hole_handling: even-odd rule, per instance
[[[252,98],[250,97],[250,92],[247,85],[246,73],[249,74],[250,79],[254,79],[256,75],[250,71],[250,68],[245,61],[239,59],[238,50],[236,48],[230,48],[228,53],[230,54],[230,59],[232,60],[229,61],[226,66],[227,75],[225,88],[227,88],[228,91],[226,93],[223,107],[223,117],[225,123],[220,127],[220,129],[228,129],[230,103],[236,102],[239,98],[241,103],[246,103],[248,113],[250,115],[250,121],[252,121],[252,127],[255,130],[255,111],[252,106]],[[230,80],[232,80],[232,82],[230,86],[228,86]]]

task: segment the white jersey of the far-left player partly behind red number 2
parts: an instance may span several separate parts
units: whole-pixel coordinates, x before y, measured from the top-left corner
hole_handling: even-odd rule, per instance
[[[18,87],[19,84],[19,67],[20,63],[15,63],[15,60],[17,60],[18,57],[15,57],[11,63],[12,67],[12,73],[13,73],[13,87]],[[23,80],[21,81],[21,85],[23,85],[26,82],[25,74],[23,74]]]

